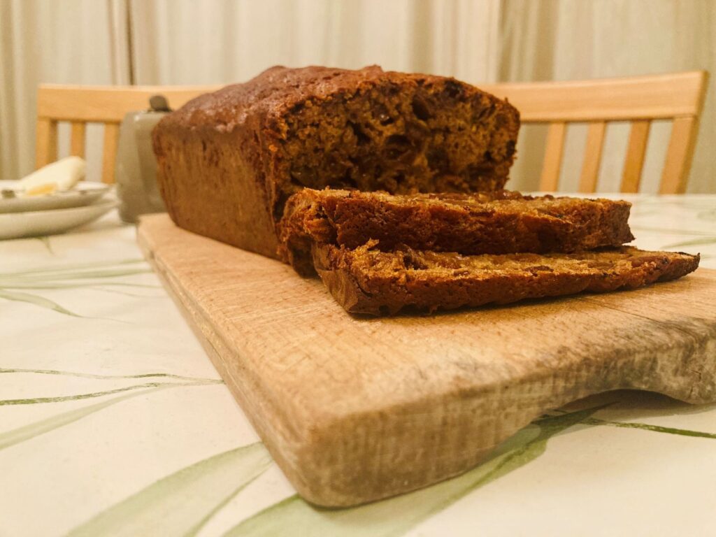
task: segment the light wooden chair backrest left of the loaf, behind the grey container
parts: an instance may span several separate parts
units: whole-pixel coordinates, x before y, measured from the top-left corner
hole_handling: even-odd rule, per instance
[[[115,182],[115,158],[120,122],[127,112],[145,110],[149,98],[164,95],[170,107],[178,108],[188,100],[220,86],[67,86],[40,84],[37,91],[37,138],[35,167],[57,160],[57,124],[69,122],[70,154],[84,157],[87,123],[102,123],[105,140],[102,148],[102,182]]]

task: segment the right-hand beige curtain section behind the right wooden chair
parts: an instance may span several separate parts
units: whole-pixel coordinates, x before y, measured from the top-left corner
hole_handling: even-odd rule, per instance
[[[708,69],[712,74],[688,192],[716,193],[716,3],[713,0],[504,0],[501,80],[569,80]],[[655,122],[642,191],[657,192],[671,133]],[[545,127],[523,127],[511,187],[537,188]],[[598,188],[618,191],[629,129],[608,127]],[[560,182],[576,190],[586,127],[569,127]]]

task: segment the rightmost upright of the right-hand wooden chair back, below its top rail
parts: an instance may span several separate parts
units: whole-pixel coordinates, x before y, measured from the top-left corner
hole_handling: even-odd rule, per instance
[[[672,126],[669,149],[662,171],[661,194],[683,194],[696,145],[697,117],[677,117]]]

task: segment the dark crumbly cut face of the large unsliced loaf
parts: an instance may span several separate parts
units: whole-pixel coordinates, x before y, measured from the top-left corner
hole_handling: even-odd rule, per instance
[[[356,72],[363,73],[363,72]],[[517,110],[455,79],[374,70],[292,105],[276,120],[276,218],[301,188],[389,193],[502,188],[515,156]],[[329,72],[329,80],[344,76]]]

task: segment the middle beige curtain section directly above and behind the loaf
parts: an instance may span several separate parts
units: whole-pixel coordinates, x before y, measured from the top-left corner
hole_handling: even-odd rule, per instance
[[[214,84],[276,64],[495,79],[499,0],[135,0],[137,84]]]

